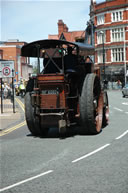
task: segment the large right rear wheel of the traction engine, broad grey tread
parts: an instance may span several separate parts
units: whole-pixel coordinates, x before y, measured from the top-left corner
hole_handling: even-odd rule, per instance
[[[87,74],[80,96],[82,133],[97,134],[102,128],[103,93],[100,80],[95,74]]]

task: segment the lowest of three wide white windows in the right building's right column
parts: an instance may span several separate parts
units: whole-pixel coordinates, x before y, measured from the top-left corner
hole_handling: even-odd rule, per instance
[[[114,48],[112,49],[112,62],[123,62],[124,61],[124,49]]]

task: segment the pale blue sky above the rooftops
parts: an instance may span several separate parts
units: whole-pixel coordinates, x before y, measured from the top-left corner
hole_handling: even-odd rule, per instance
[[[69,31],[85,30],[91,0],[0,0],[0,39],[32,42],[58,34],[62,19]],[[101,0],[97,0],[101,1]]]

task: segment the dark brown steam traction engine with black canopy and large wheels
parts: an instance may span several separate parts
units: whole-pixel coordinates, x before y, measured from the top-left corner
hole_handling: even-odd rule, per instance
[[[46,135],[50,127],[64,133],[76,124],[83,134],[97,134],[108,124],[107,92],[90,55],[94,55],[91,45],[62,40],[22,47],[22,56],[38,59],[38,73],[30,77],[25,95],[25,116],[33,135]]]

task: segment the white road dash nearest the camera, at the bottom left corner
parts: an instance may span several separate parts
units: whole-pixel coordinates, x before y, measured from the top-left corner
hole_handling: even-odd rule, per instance
[[[26,183],[26,182],[32,181],[32,180],[34,180],[34,179],[36,179],[36,178],[39,178],[39,177],[44,176],[44,175],[46,175],[46,174],[49,174],[49,173],[51,173],[51,172],[53,172],[53,170],[49,170],[49,171],[44,172],[44,173],[41,173],[41,174],[39,174],[39,175],[37,175],[37,176],[33,176],[33,177],[28,178],[28,179],[26,179],[26,180],[20,181],[20,182],[18,182],[18,183],[16,183],[16,184],[7,186],[7,187],[5,187],[5,188],[0,189],[0,192],[3,192],[3,191],[5,191],[5,190],[9,190],[9,189],[11,189],[11,188],[13,188],[13,187],[15,187],[15,186],[19,186],[19,185],[24,184],[24,183]]]

